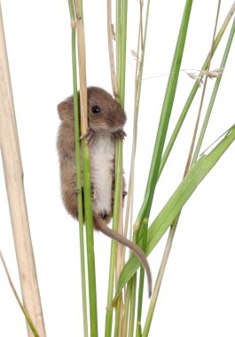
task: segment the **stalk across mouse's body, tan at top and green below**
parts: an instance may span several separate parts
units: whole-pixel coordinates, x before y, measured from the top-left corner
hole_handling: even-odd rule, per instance
[[[78,64],[80,79],[80,114],[82,136],[88,128],[87,112],[87,85],[86,85],[86,59],[85,59],[85,40],[83,28],[82,0],[74,0],[74,9],[77,25],[77,47]],[[90,335],[98,336],[98,310],[97,310],[97,286],[94,255],[93,238],[93,219],[92,219],[92,201],[90,192],[90,158],[88,145],[85,139],[82,139],[82,165],[83,165],[83,192],[84,209],[86,222],[86,242],[87,242],[87,265],[89,280],[89,299],[90,299]]]

